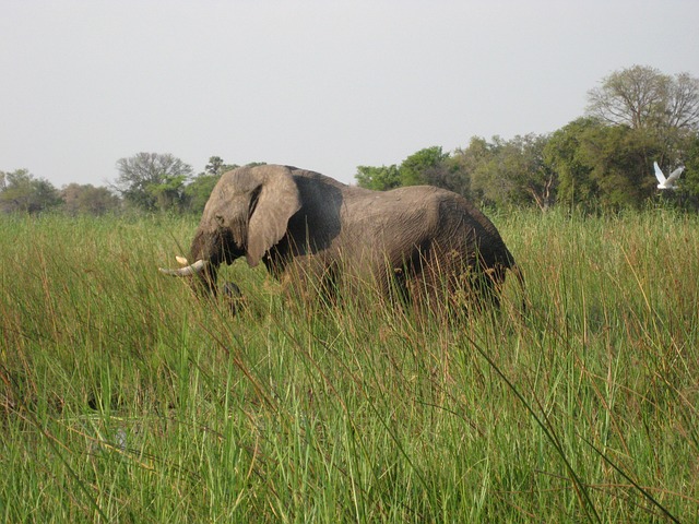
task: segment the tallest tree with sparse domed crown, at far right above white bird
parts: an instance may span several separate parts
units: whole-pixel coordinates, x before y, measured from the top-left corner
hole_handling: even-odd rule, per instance
[[[605,78],[589,100],[588,114],[606,129],[587,132],[579,155],[606,205],[638,205],[654,194],[653,160],[672,166],[690,159],[699,130],[699,79],[633,66]],[[687,182],[687,195],[699,196],[691,188]]]

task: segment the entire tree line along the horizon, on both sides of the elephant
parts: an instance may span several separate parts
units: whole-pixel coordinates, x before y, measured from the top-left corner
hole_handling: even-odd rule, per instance
[[[666,172],[686,167],[676,191],[659,196],[653,162]],[[212,156],[194,175],[171,154],[138,153],[117,160],[109,187],[60,190],[26,169],[0,171],[0,212],[201,213],[221,175],[235,167]],[[697,210],[699,79],[633,66],[590,90],[584,115],[553,133],[474,136],[453,152],[430,146],[401,164],[358,166],[355,179],[375,190],[438,186],[490,206],[623,209],[664,198]]]

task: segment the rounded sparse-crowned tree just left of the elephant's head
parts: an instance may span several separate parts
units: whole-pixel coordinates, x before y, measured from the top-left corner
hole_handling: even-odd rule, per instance
[[[145,211],[185,205],[185,184],[192,168],[169,153],[138,153],[117,160],[117,169],[115,187],[129,204]]]

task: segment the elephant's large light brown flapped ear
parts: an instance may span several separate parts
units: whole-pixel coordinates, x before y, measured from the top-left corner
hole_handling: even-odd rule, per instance
[[[264,181],[257,203],[251,202],[248,224],[247,260],[252,267],[262,255],[286,234],[288,219],[301,207],[298,188],[291,169],[283,166],[259,166]]]

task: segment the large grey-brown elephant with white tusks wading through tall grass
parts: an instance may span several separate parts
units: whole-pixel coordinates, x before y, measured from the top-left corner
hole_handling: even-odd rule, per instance
[[[188,265],[161,271],[196,276],[196,288],[215,295],[221,264],[241,257],[301,288],[312,278],[312,289],[331,296],[370,283],[383,295],[431,301],[466,285],[478,303],[497,306],[507,270],[523,283],[496,227],[457,193],[372,191],[282,165],[225,172],[194,234],[194,262],[178,258]]]

